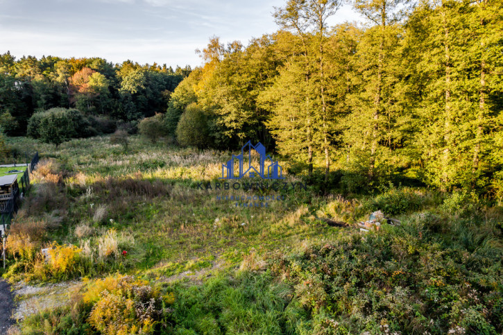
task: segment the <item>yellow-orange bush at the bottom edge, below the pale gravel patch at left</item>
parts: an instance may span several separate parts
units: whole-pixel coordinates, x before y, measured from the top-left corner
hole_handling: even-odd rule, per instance
[[[85,282],[69,292],[68,304],[20,320],[22,334],[158,333],[164,303],[148,282],[123,275]]]

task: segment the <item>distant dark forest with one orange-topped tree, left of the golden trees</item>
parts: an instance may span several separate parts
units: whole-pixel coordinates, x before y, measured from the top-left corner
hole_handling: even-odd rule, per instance
[[[0,126],[8,135],[26,135],[28,119],[51,108],[135,122],[166,112],[171,93],[190,71],[130,60],[114,65],[103,58],[16,60],[6,52],[0,55]]]

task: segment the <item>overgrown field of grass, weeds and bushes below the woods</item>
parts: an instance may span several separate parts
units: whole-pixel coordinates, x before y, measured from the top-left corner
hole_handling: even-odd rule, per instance
[[[42,159],[3,277],[83,278],[66,306],[13,333],[503,332],[503,208],[491,199],[393,184],[321,192],[281,159],[285,181],[306,189],[201,189],[221,182],[232,153],[140,137],[127,152],[109,137],[9,142]],[[236,207],[217,196],[275,200]],[[360,232],[377,209],[402,225]]]

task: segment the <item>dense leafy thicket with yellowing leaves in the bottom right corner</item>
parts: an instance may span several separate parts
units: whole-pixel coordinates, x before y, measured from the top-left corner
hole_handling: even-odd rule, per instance
[[[311,316],[306,334],[339,334],[319,331],[328,324],[346,329],[340,334],[500,334],[501,288],[492,278],[500,277],[502,248],[488,253],[481,240],[468,252],[456,247],[457,225],[466,227],[446,227],[445,242],[422,223],[384,227],[273,256],[268,266]]]

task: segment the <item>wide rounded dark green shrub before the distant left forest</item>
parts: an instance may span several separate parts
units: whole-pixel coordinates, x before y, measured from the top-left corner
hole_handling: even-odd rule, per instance
[[[56,144],[56,147],[69,139],[88,135],[89,123],[75,109],[51,108],[33,114],[28,121],[28,136]]]

